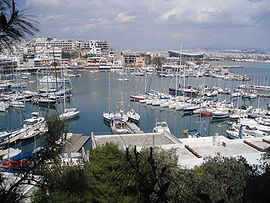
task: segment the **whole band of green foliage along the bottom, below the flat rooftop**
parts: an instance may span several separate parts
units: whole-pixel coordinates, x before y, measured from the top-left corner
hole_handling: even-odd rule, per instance
[[[266,202],[258,195],[269,190],[269,170],[253,170],[243,158],[221,156],[183,169],[175,150],[138,152],[135,147],[125,152],[107,143],[92,150],[82,168],[57,163],[47,168],[46,184],[32,202]],[[254,181],[258,189],[247,195],[253,194]]]

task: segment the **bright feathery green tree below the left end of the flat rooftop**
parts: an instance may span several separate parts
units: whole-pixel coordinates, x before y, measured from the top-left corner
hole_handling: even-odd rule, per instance
[[[125,154],[113,144],[106,144],[90,153],[85,165],[93,202],[130,202],[120,190],[125,180]]]

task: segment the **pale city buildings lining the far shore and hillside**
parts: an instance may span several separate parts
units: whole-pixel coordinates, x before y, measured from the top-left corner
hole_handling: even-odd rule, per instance
[[[255,50],[132,52],[113,49],[105,40],[46,37],[22,41],[14,46],[12,53],[0,53],[0,71],[41,69],[52,65],[102,70],[148,66],[175,69],[180,65],[180,58],[185,64],[204,61],[270,62],[270,54]]]

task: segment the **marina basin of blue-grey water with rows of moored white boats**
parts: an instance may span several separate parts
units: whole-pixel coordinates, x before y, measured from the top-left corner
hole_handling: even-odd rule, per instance
[[[254,69],[248,63],[230,66],[243,67],[230,69],[231,75],[242,75],[243,72],[250,71],[250,68]],[[260,68],[262,64],[258,66],[257,68]],[[260,126],[269,116],[268,98],[264,97],[269,94],[268,83],[237,79],[226,81],[215,75],[208,76],[209,67],[211,66],[206,66],[206,71],[201,77],[193,76],[202,73],[203,69],[197,66],[195,69],[194,67],[173,68],[174,72],[171,72],[173,77],[160,77],[160,71],[151,71],[151,74],[147,74],[149,69],[141,69],[141,74],[134,74],[132,70],[125,72],[123,70],[120,72],[77,70],[81,77],[71,77],[70,80],[65,79],[65,81],[59,78],[61,81],[59,83],[26,83],[27,89],[24,88],[19,92],[22,98],[28,95],[29,99],[21,100],[24,102],[22,107],[9,107],[2,112],[0,128],[7,132],[19,129],[24,124],[24,118],[29,118],[31,112],[36,111],[43,117],[56,112],[60,117],[65,115],[65,118],[69,118],[67,120],[69,131],[84,136],[90,136],[91,132],[94,134],[118,134],[120,131],[120,133],[131,134],[149,133],[154,130],[157,122],[166,122],[170,133],[177,138],[208,137],[215,133],[229,138],[239,138],[240,124],[236,121],[240,117],[261,116],[264,119],[260,120],[261,124],[244,123],[253,131],[248,131],[247,127],[244,127],[243,136],[268,135],[270,131]],[[216,69],[215,66],[213,67]],[[185,75],[185,72],[189,74]],[[123,74],[128,81],[119,80]],[[183,77],[182,74],[185,76]],[[247,76],[265,77],[264,75]],[[29,81],[35,81],[37,75],[31,74],[28,77]],[[63,89],[56,91],[55,84]],[[36,93],[37,87],[41,88],[41,93]],[[244,94],[244,91],[257,91],[256,97],[245,96],[247,94]],[[37,97],[38,94],[41,97]],[[7,104],[8,100],[3,102]],[[265,109],[262,111],[264,114],[256,114],[258,108]],[[114,128],[122,126],[120,128],[124,127],[126,131],[111,129],[112,118],[113,120],[118,118],[120,119],[118,122],[122,123],[115,124]],[[14,143],[15,147],[18,146],[23,151],[31,151],[33,147],[42,145],[39,139],[33,144],[31,139],[23,141],[21,137],[22,134],[19,134],[2,143],[3,145],[7,142]],[[89,142],[88,140],[88,146]]]

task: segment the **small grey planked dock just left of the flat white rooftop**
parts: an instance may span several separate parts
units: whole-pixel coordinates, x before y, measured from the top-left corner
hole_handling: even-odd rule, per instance
[[[64,152],[79,152],[89,139],[89,136],[83,136],[83,134],[68,133]]]

